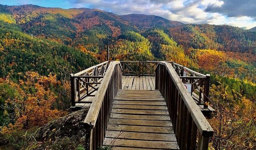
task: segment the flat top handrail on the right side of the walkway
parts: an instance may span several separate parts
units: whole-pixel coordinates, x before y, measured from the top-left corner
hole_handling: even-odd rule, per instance
[[[198,128],[198,131],[202,136],[213,136],[213,129],[196,105],[195,101],[193,100],[192,96],[188,93],[188,90],[184,87],[184,84],[180,80],[179,76],[176,74],[174,68],[170,63],[167,62],[159,62],[160,64],[164,65],[169,72],[172,80],[174,81],[175,86],[177,87],[178,92],[180,93],[180,96],[182,97],[182,100],[184,100],[184,104],[186,104],[186,107],[188,108],[188,111],[190,112],[194,122],[196,123],[196,126]]]

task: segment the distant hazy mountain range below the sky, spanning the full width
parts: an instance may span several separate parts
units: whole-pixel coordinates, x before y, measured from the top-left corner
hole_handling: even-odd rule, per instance
[[[94,52],[105,49],[109,39],[116,39],[126,31],[140,32],[152,28],[169,31],[169,36],[185,50],[198,48],[255,54],[256,49],[255,32],[232,26],[182,24],[153,15],[118,16],[89,8],[0,5],[0,20],[17,24],[27,34],[74,47],[83,46]],[[94,40],[88,41],[90,38]],[[93,44],[91,41],[94,41]],[[98,46],[92,47],[95,43]]]

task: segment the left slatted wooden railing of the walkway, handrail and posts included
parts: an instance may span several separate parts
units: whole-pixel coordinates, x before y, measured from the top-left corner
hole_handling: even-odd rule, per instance
[[[122,67],[120,62],[110,62],[98,92],[96,93],[88,114],[84,120],[90,128],[90,150],[101,147],[106,134],[106,128],[114,97],[122,88]]]

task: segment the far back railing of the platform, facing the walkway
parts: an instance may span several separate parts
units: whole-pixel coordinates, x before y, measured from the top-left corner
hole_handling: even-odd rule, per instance
[[[120,61],[123,76],[155,76],[158,61]]]

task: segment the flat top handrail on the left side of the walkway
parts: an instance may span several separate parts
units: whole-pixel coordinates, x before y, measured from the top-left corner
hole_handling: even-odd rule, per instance
[[[111,79],[111,76],[113,74],[116,64],[119,64],[122,69],[122,66],[119,61],[110,62],[109,66],[108,66],[108,70],[106,71],[106,74],[105,74],[104,78],[102,79],[102,82],[98,88],[98,91],[97,91],[94,99],[92,100],[92,104],[91,104],[90,109],[86,115],[86,118],[84,119],[84,124],[87,124],[91,128],[94,128],[94,126],[95,126],[96,120],[98,118],[98,114],[100,112],[100,107],[102,105],[108,84],[110,82],[110,79]]]

